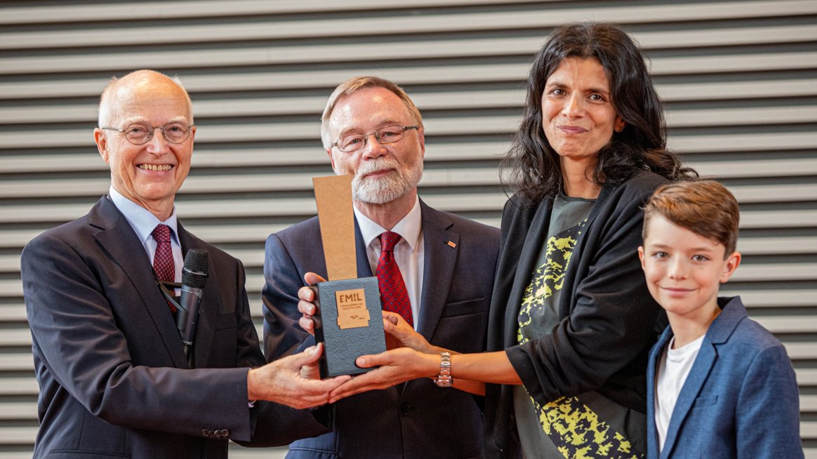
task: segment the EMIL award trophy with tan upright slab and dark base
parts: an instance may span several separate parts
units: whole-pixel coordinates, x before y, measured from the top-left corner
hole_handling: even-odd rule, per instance
[[[315,284],[315,341],[324,343],[320,377],[368,372],[355,359],[386,350],[377,278],[357,277],[352,176],[312,179],[328,282]]]

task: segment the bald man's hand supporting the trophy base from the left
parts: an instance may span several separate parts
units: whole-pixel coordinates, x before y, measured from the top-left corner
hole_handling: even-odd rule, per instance
[[[268,400],[297,409],[328,403],[329,393],[350,377],[319,380],[316,366],[323,350],[324,345],[318,344],[300,354],[253,368],[247,376],[248,399]]]

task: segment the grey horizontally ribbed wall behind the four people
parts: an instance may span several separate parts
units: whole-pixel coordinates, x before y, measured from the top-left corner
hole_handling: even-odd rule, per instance
[[[739,198],[743,265],[725,290],[787,345],[817,457],[817,1],[86,0],[0,2],[0,459],[30,457],[38,426],[20,250],[107,190],[92,129],[110,76],[185,82],[199,131],[178,212],[244,261],[260,322],[264,240],[315,213],[338,82],[402,84],[426,119],[422,197],[498,225],[529,60],[575,20],[641,42],[671,148]]]

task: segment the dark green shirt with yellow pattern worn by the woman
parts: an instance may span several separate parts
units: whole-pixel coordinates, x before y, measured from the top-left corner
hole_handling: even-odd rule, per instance
[[[561,194],[554,200],[538,268],[531,273],[522,295],[517,333],[520,344],[550,335],[560,323],[558,308],[565,273],[570,260],[578,258],[577,244],[594,203]],[[524,456],[637,457],[630,453],[629,442],[615,428],[619,420],[603,417],[608,410],[598,410],[606,403],[612,402],[600,394],[587,393],[540,405],[523,386],[515,386],[514,411]]]

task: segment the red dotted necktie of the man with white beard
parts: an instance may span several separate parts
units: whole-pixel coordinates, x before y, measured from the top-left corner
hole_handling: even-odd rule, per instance
[[[380,259],[377,260],[377,286],[380,287],[380,301],[383,310],[403,316],[408,325],[414,326],[411,303],[403,281],[403,274],[395,261],[395,245],[400,242],[400,234],[386,231],[380,235]]]

